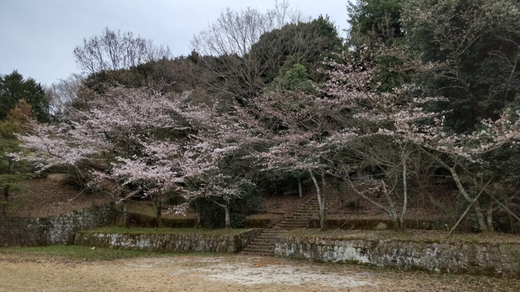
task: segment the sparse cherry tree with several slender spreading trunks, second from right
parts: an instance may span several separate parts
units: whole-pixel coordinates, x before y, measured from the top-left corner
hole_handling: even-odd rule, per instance
[[[428,112],[425,105],[444,99],[412,98],[412,86],[385,91],[373,80],[377,56],[366,47],[355,53],[345,52],[340,61],[328,62],[332,69],[324,88],[329,97],[324,100],[343,109],[327,141],[331,147],[346,150],[346,155],[336,156],[335,174],[402,230],[409,197],[408,163],[418,147],[394,134],[419,131],[421,123],[440,115]],[[382,193],[387,204],[373,200],[375,193]],[[396,201],[401,202],[400,211]]]

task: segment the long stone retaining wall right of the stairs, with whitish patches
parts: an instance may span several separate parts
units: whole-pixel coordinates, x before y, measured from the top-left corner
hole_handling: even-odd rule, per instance
[[[421,269],[520,277],[520,243],[424,243],[278,237],[275,255],[323,262],[356,262]]]

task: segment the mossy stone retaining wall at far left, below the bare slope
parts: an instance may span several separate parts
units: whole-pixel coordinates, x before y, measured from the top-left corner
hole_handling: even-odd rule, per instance
[[[0,217],[0,246],[71,244],[74,233],[114,223],[112,204],[72,211],[54,217]]]

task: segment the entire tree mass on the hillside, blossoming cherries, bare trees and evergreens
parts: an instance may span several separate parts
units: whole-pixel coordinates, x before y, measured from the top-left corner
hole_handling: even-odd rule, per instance
[[[63,172],[85,194],[151,200],[158,219],[168,201],[230,228],[303,185],[322,230],[332,188],[402,230],[412,200],[452,212],[440,189],[453,228],[518,233],[520,4],[347,7],[346,39],[287,5],[227,9],[188,56],[106,28],[71,52],[82,74],[0,76],[0,204]]]

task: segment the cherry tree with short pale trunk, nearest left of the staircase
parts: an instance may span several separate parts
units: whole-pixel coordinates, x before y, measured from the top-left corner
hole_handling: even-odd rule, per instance
[[[184,195],[188,201],[205,198],[222,207],[225,227],[229,229],[232,201],[242,197],[253,185],[249,180],[251,168],[244,167],[244,162],[248,160],[250,145],[258,139],[253,128],[240,120],[235,107],[225,107],[217,100],[213,107],[203,104],[189,110],[186,118],[193,131],[189,138],[198,143],[186,153],[197,156],[197,163],[205,163],[208,167],[187,178]]]

